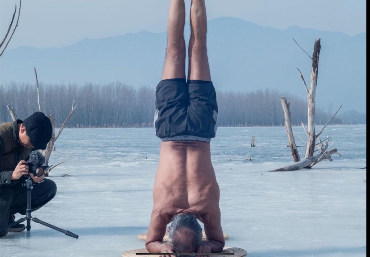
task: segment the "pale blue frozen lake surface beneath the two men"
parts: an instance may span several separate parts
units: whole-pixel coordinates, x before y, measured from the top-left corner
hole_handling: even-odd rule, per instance
[[[323,134],[342,157],[268,172],[293,163],[285,127],[218,129],[211,151],[226,246],[248,257],[366,256],[366,169],[358,169],[366,167],[366,125],[327,126]],[[31,222],[30,232],[1,238],[1,257],[120,257],[145,247],[137,235],[147,232],[153,204],[160,146],[153,129],[64,129],[55,146],[49,164],[68,160],[51,171],[57,195],[32,214],[79,238]]]

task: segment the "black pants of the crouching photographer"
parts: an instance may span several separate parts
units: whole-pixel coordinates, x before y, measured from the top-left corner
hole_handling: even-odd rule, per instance
[[[31,210],[43,207],[54,198],[57,193],[57,185],[50,179],[36,184],[31,190]],[[16,213],[26,215],[27,209],[27,188],[19,182],[14,186],[1,186],[0,189],[0,227],[7,226],[9,216]],[[5,236],[8,230],[0,232],[0,237]]]

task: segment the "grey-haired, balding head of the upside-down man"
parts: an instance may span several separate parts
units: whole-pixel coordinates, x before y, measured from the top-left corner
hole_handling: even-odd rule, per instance
[[[194,214],[179,214],[172,220],[168,237],[176,253],[193,253],[202,241],[202,228]]]

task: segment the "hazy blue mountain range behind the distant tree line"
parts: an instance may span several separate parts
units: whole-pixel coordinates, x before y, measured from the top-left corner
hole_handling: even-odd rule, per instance
[[[50,31],[50,36],[58,31]],[[189,27],[185,29],[189,37]],[[212,80],[221,90],[276,89],[306,97],[299,68],[310,81],[310,58],[316,38],[321,54],[316,103],[320,108],[366,112],[366,32],[344,33],[258,26],[238,18],[208,22],[208,56]],[[161,79],[166,33],[128,33],[84,39],[61,48],[19,47],[1,56],[1,85],[35,82],[33,67],[43,83],[107,83],[155,87]],[[279,100],[279,99],[277,99]],[[289,101],[289,99],[288,99]],[[330,107],[328,107],[330,106]]]

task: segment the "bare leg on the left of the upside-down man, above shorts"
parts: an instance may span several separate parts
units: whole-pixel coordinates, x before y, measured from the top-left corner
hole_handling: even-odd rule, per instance
[[[185,78],[185,3],[171,0],[167,22],[167,48],[162,80]]]

